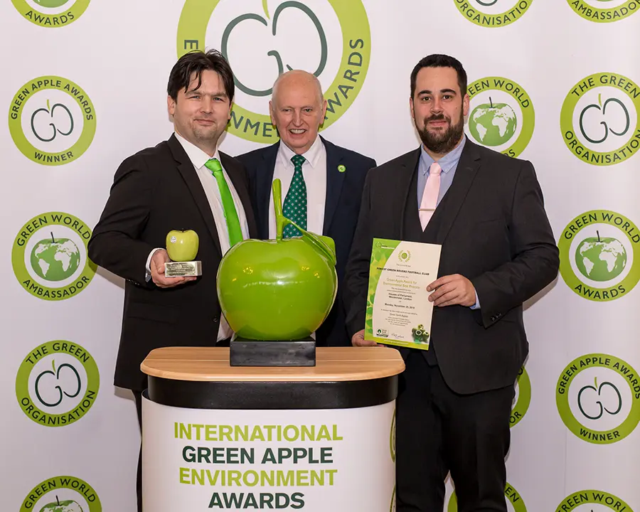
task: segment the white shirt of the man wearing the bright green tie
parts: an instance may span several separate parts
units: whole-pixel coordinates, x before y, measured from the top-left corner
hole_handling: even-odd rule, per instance
[[[193,168],[196,170],[196,174],[198,174],[198,178],[200,178],[200,183],[202,183],[202,188],[205,191],[207,199],[209,201],[209,206],[211,207],[211,212],[213,213],[213,219],[215,220],[215,229],[218,231],[218,240],[220,241],[220,249],[222,250],[223,255],[230,249],[229,242],[229,231],[227,229],[227,221],[225,220],[225,210],[222,202],[222,197],[220,196],[220,189],[218,188],[218,182],[215,181],[215,177],[211,174],[211,171],[205,167],[206,162],[210,158],[215,158],[220,161],[220,166],[223,167],[223,173],[225,176],[225,180],[229,186],[229,190],[231,192],[231,196],[233,197],[233,203],[235,204],[235,210],[238,212],[238,219],[240,220],[240,229],[242,230],[242,239],[247,240],[249,238],[249,227],[247,225],[247,216],[245,215],[245,208],[242,206],[242,201],[240,201],[240,196],[238,196],[238,192],[235,191],[235,187],[227,171],[225,171],[224,166],[222,165],[222,161],[220,160],[220,153],[218,149],[215,149],[215,154],[213,156],[209,156],[202,149],[198,148],[188,142],[188,140],[181,137],[176,132],[176,139],[182,145],[184,151],[186,152],[189,160],[191,160],[191,164],[193,164]],[[198,233],[198,236],[202,236],[202,233]],[[149,254],[149,258],[146,261],[146,271],[150,276],[150,262],[151,257],[154,255],[158,249],[154,249]],[[197,256],[196,256],[197,257]],[[203,272],[218,272],[218,269],[208,269],[203,268]],[[218,341],[230,338],[233,334],[232,329],[230,328],[225,316],[220,314],[220,328],[218,329]]]

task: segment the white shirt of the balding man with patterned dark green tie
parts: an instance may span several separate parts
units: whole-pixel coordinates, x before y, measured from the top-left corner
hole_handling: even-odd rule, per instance
[[[282,202],[287,197],[287,191],[294,175],[294,164],[291,161],[294,152],[282,140],[278,148],[273,179],[282,182]],[[326,149],[320,136],[304,153],[302,177],[306,184],[306,230],[321,235],[324,228],[324,204],[326,203]],[[269,194],[269,238],[275,238],[275,213],[273,209],[273,194]]]

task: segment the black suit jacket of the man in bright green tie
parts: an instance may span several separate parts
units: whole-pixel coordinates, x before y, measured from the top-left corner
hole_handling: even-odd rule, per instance
[[[235,159],[220,160],[242,201],[249,233],[255,237],[246,171]],[[200,245],[202,276],[161,289],[145,279],[154,247],[166,247],[166,234],[193,229]],[[175,135],[130,156],[114,176],[110,197],[89,241],[89,257],[126,279],[122,334],[114,384],[146,388],[139,367],[147,354],[163,346],[213,346],[220,326],[215,274],[222,259],[213,213],[201,182]]]

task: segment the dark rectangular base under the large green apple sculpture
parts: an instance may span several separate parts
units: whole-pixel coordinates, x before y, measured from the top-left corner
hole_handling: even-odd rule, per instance
[[[316,366],[316,341],[311,336],[293,341],[238,337],[229,346],[230,366]]]

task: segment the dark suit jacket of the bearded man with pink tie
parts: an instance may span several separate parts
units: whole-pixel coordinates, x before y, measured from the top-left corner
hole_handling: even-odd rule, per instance
[[[411,183],[419,159],[417,149],[367,177],[347,265],[349,334],[364,328],[373,238],[405,240],[405,212],[417,215]],[[442,244],[439,277],[470,279],[481,306],[434,308],[430,350],[444,380],[464,394],[513,385],[528,353],[522,304],[555,279],[560,265],[533,166],[467,140],[427,230]]]

